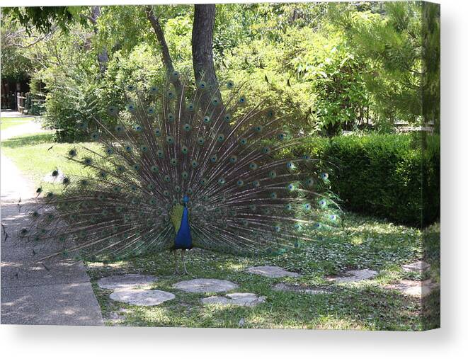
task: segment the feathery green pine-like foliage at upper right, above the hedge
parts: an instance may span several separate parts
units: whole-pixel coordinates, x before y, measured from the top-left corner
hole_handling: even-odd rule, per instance
[[[363,79],[375,122],[421,122],[421,2],[389,1],[365,11],[334,4],[330,14],[355,56],[369,66]]]

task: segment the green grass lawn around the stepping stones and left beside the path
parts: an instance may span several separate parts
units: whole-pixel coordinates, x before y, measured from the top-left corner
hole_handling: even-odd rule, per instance
[[[79,144],[53,143],[49,134],[16,137],[2,142],[1,146],[4,154],[38,184],[53,169],[64,173],[83,170],[62,156]],[[401,269],[402,264],[423,258],[424,254],[433,265],[430,277],[438,281],[439,232],[440,227],[435,225],[423,236],[420,229],[347,212],[340,227],[310,233],[314,241],[281,256],[242,258],[192,250],[186,255],[190,275],[172,274],[173,256],[168,252],[116,263],[85,264],[108,325],[422,330],[437,326],[438,315],[426,308],[427,305],[424,307],[424,302],[417,297],[385,289],[385,285],[400,279],[424,279],[421,273]],[[423,238],[428,253],[423,253]],[[265,278],[245,271],[248,266],[265,265],[281,266],[301,276]],[[377,270],[379,274],[358,283],[333,284],[327,280],[330,275],[360,268]],[[159,281],[154,283],[154,289],[173,292],[176,299],[155,307],[114,302],[108,297],[111,291],[102,290],[96,280],[122,273],[156,275]],[[179,280],[191,278],[231,280],[239,285],[235,292],[263,295],[266,302],[256,307],[203,305],[200,299],[208,295],[171,287]],[[329,293],[281,292],[273,290],[277,283],[324,287]],[[438,295],[438,291],[434,292],[426,303],[436,303]]]

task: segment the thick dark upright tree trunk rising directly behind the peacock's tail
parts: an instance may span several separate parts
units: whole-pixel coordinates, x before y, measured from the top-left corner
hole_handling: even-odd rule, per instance
[[[204,108],[214,110],[215,115],[219,113],[212,106],[212,97],[219,99],[216,108],[222,108],[222,98],[213,60],[213,29],[215,28],[215,4],[195,5],[192,29],[192,57],[195,81],[205,81],[208,91],[200,99]]]

